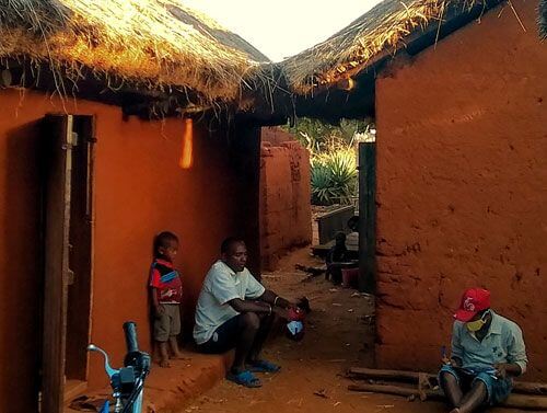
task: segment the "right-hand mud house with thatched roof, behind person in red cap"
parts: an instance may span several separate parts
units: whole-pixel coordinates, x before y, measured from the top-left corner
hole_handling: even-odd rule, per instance
[[[484,286],[524,330],[527,378],[547,379],[537,12],[536,1],[386,0],[282,64],[301,114],[376,122],[376,218],[364,232],[380,367],[435,370],[462,291]]]

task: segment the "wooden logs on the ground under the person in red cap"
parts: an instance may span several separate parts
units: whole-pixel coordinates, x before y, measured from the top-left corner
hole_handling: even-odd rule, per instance
[[[348,378],[356,381],[348,387],[351,391],[403,395],[409,401],[444,400],[437,376],[427,372],[353,367]],[[501,405],[547,411],[547,383],[515,381],[513,392]]]

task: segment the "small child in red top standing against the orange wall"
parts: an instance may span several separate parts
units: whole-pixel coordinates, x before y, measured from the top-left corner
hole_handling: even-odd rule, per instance
[[[181,301],[183,286],[173,261],[178,251],[178,238],[161,232],[154,239],[154,262],[150,272],[150,292],[154,314],[154,341],[160,366],[170,367],[167,342],[175,358],[182,358],[177,335],[181,333]]]

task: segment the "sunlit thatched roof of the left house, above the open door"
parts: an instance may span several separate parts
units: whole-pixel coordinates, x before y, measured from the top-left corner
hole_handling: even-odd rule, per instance
[[[44,64],[56,81],[92,72],[110,89],[237,96],[242,77],[268,61],[184,0],[0,0],[0,59]],[[69,89],[70,90],[70,89]]]

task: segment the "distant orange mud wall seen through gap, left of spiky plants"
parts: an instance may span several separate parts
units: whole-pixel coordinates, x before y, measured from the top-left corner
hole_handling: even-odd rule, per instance
[[[310,154],[279,128],[261,135],[260,261],[274,271],[289,250],[312,241]]]

